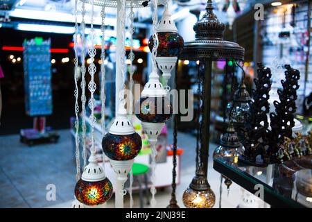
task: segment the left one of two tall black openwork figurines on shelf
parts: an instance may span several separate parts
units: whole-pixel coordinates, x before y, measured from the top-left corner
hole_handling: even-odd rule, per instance
[[[239,160],[247,164],[257,166],[266,166],[268,156],[266,149],[268,148],[268,112],[270,111],[270,88],[271,88],[271,70],[264,67],[262,63],[258,63],[258,78],[254,79],[256,89],[252,90],[253,103],[251,105],[251,126],[248,130],[247,139],[243,140],[245,151]],[[261,141],[261,142],[259,142]],[[257,156],[262,159],[257,160]]]

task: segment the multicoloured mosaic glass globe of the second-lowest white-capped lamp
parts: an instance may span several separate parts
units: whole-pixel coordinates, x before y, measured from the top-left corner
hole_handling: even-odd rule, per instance
[[[130,135],[107,133],[103,137],[102,148],[111,160],[132,160],[141,151],[142,140],[138,133]]]

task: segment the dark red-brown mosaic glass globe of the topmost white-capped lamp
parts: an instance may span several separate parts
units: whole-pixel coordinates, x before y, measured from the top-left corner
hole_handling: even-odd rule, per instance
[[[182,53],[184,40],[175,32],[159,32],[158,33],[158,48],[157,56],[173,57],[179,56]],[[153,36],[150,37],[148,47],[152,51],[154,45]]]

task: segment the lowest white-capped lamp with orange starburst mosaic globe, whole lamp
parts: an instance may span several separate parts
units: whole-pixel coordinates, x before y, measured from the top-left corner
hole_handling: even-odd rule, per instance
[[[98,164],[95,152],[92,152],[89,164],[76,183],[77,200],[89,206],[101,205],[112,197],[112,191],[112,183],[106,178],[103,168]]]

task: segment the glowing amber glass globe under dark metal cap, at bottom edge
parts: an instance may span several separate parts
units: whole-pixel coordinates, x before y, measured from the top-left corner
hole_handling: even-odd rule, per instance
[[[182,200],[187,208],[211,208],[214,207],[216,196],[210,188],[205,191],[196,191],[188,187],[184,191]]]

